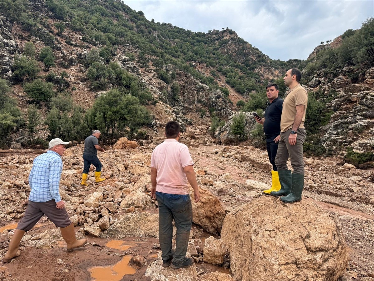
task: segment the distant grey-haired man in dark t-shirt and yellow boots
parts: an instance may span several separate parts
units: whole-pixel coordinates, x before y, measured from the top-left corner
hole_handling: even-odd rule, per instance
[[[88,186],[87,184],[87,176],[88,171],[90,170],[91,164],[96,167],[95,170],[95,181],[102,182],[105,181],[104,178],[100,178],[101,175],[101,162],[99,158],[97,158],[97,151],[104,152],[105,149],[101,148],[98,142],[98,138],[100,137],[101,133],[99,130],[95,130],[92,132],[92,135],[85,139],[85,150],[83,150],[83,161],[84,161],[84,168],[82,173],[82,182],[81,185]]]

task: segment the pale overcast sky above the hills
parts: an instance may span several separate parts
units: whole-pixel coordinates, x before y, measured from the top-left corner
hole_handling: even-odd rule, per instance
[[[191,31],[229,27],[272,59],[305,60],[321,41],[358,29],[374,0],[122,0],[148,20]]]

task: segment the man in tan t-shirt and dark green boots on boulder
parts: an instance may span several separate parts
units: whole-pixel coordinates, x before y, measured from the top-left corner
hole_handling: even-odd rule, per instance
[[[289,69],[283,78],[284,84],[289,87],[283,101],[281,117],[281,139],[275,157],[278,167],[281,189],[272,191],[273,196],[284,196],[285,203],[301,201],[304,188],[304,159],[303,143],[306,138],[304,128],[308,94],[300,85],[301,72],[297,68]],[[287,167],[288,158],[291,160],[293,173]]]

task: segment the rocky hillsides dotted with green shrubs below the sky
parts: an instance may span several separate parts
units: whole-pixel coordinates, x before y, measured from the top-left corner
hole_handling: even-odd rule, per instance
[[[373,19],[316,47],[306,61],[285,62],[270,59],[229,28],[191,32],[148,21],[120,1],[1,4],[0,74],[11,85],[3,93],[21,110],[13,110],[14,120],[2,117],[12,123],[4,129],[3,148],[22,136],[33,139],[22,138],[23,145],[42,145],[55,136],[81,141],[95,128],[107,144],[120,136],[150,139],[170,119],[183,130],[224,123],[239,110],[263,111],[269,82],[279,84],[282,97],[284,73],[299,67],[310,95],[306,152],[332,155],[346,146],[373,151]],[[119,92],[102,95],[111,89]],[[123,98],[127,94],[133,98]],[[103,108],[108,99],[121,105],[114,119]],[[244,106],[236,106],[240,100]],[[30,103],[41,117],[35,124],[27,120]],[[137,105],[132,112],[124,109],[130,104]],[[249,143],[261,138],[250,135]]]

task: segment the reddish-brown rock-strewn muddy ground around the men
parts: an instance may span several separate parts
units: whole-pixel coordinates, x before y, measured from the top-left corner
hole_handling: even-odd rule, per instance
[[[181,137],[181,142],[189,146],[200,187],[217,197],[226,213],[264,196],[261,190],[271,184],[266,152],[252,146],[215,145],[207,129],[188,128]],[[60,193],[67,202],[77,235],[88,238],[88,245],[67,252],[59,230],[43,217],[38,227],[22,239],[21,257],[0,264],[0,280],[109,280],[108,274],[114,276],[110,280],[150,280],[145,271],[158,259],[160,249],[152,232],[157,229],[157,206],[147,192],[151,151],[163,141],[162,134],[159,135],[142,146],[124,141],[107,147],[99,153],[102,175],[107,180],[96,184],[90,171],[87,188],[79,185],[83,147],[68,148],[63,157]],[[28,174],[33,159],[40,153],[27,149],[0,151],[0,227],[21,219],[30,192]],[[341,280],[374,280],[373,171],[356,169],[335,158],[306,158],[305,163],[304,197],[298,204],[315,203],[341,224],[350,258]],[[144,187],[144,192],[138,192],[139,187]],[[121,224],[123,228],[119,230],[115,226],[121,221],[126,224]],[[208,272],[229,273],[229,269],[203,262],[201,249],[211,236],[206,230],[214,233],[215,229],[209,223],[197,223],[204,227],[193,225],[189,247],[197,272],[201,278]],[[12,235],[11,230],[1,231],[0,260]],[[113,243],[112,239],[128,247],[113,248],[107,244]],[[130,266],[136,271],[122,277],[113,271],[123,257],[131,258]],[[227,266],[228,261],[224,264]],[[109,273],[103,279],[95,279],[95,266],[108,267]]]

